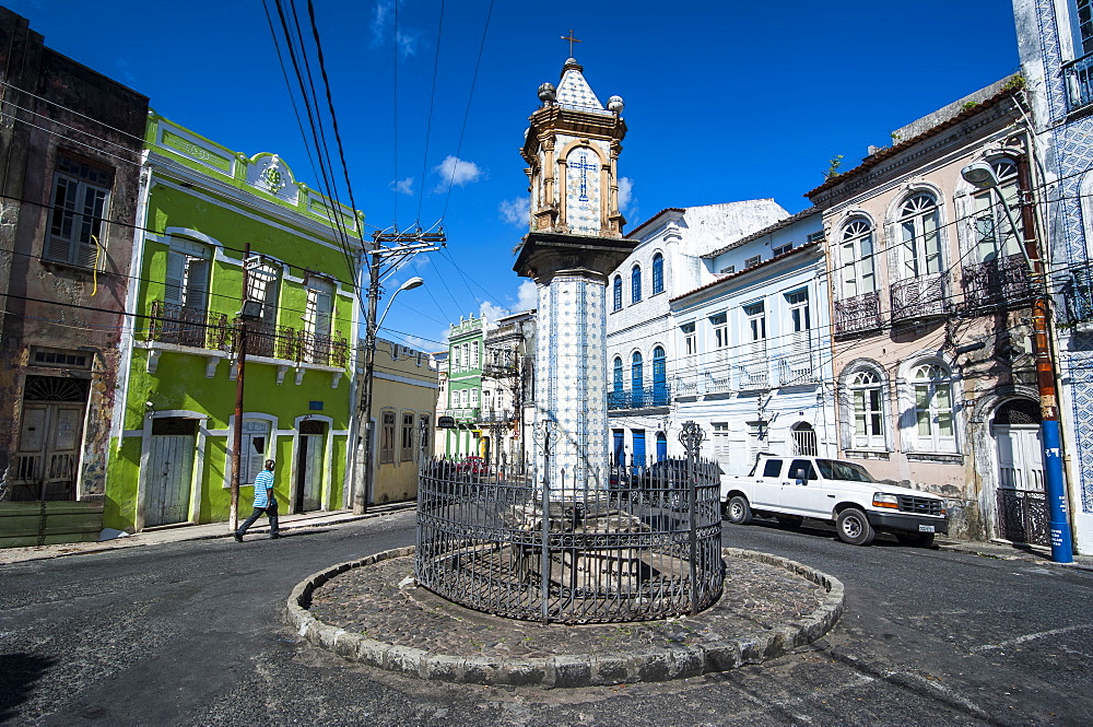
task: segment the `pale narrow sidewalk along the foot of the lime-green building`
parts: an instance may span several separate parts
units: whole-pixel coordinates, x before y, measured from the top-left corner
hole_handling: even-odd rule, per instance
[[[331,526],[353,523],[369,517],[381,517],[406,509],[413,509],[416,502],[388,503],[368,507],[365,515],[354,515],[352,511],[337,509],[321,513],[299,513],[295,515],[282,515],[279,519],[282,532],[299,530],[302,528],[326,528]],[[243,521],[244,513],[240,513],[239,521]],[[255,523],[247,530],[246,539],[269,537],[269,520],[265,517]],[[0,549],[0,565],[10,563],[23,563],[26,561],[38,561],[49,558],[62,558],[64,555],[82,555],[85,553],[102,553],[121,548],[136,548],[138,546],[155,546],[165,542],[180,542],[183,540],[210,540],[213,538],[231,538],[232,531],[227,523],[205,523],[202,525],[171,525],[160,528],[150,528],[137,535],[114,538],[101,542],[69,542],[56,546],[32,546],[28,548],[2,548]]]

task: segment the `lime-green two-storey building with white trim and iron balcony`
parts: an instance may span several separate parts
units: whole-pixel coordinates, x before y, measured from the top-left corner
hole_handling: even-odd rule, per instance
[[[240,511],[267,458],[282,513],[346,507],[363,215],[154,113],[145,146],[105,526],[228,519],[248,243]]]

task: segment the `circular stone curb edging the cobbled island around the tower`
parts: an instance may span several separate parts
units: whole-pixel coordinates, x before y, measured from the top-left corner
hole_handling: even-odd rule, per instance
[[[396,548],[357,561],[340,563],[315,573],[292,590],[287,602],[289,624],[312,644],[352,661],[408,677],[471,684],[539,687],[591,687],[638,681],[667,681],[728,671],[747,664],[761,664],[811,644],[826,634],[844,609],[843,584],[797,561],[739,548],[724,548],[724,556],[759,561],[785,568],[826,591],[821,606],[797,621],[720,642],[717,646],[658,648],[613,654],[556,655],[545,658],[486,658],[433,654],[421,648],[397,646],[350,633],[312,615],[312,594],[331,578],[356,567],[391,558],[413,555],[414,547]]]

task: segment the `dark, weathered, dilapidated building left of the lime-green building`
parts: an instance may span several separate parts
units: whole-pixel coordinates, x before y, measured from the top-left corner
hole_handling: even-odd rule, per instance
[[[95,539],[118,348],[136,325],[124,301],[148,98],[3,8],[0,86],[0,501],[42,503],[45,518],[79,501],[90,515],[79,532],[7,544]]]

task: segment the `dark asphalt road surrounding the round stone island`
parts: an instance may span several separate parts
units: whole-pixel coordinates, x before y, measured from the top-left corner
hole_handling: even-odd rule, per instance
[[[819,648],[579,690],[422,682],[299,642],[291,588],[413,540],[410,512],[280,541],[190,541],[0,567],[0,723],[12,725],[1088,725],[1093,574],[726,526],[725,544],[846,585]],[[731,587],[729,584],[727,587]]]

